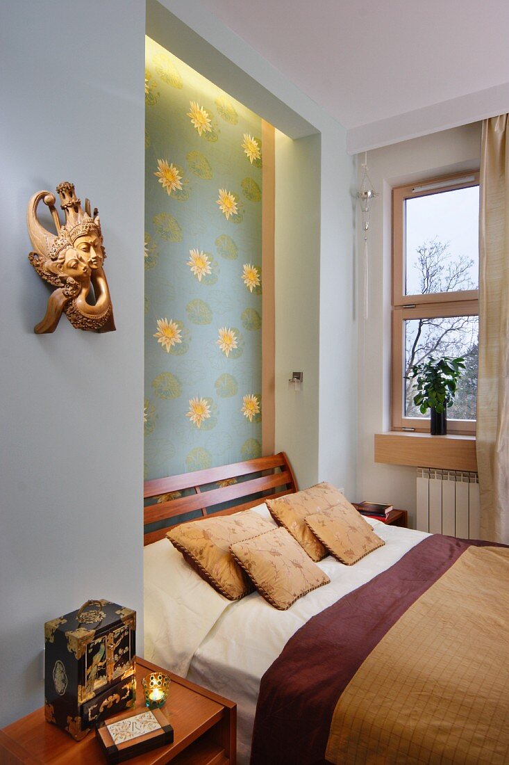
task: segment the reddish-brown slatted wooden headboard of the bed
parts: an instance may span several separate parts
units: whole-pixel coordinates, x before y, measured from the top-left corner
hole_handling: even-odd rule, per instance
[[[258,477],[249,478],[252,474]],[[238,479],[243,480],[238,480]],[[209,484],[225,482],[222,486],[206,488]],[[186,490],[192,490],[187,496],[180,496]],[[158,501],[156,504],[144,507],[144,526],[157,521],[164,521],[183,516],[186,513],[200,510],[202,516],[211,514],[218,516],[238,513],[259,505],[267,498],[284,496],[298,490],[297,480],[293,475],[290,462],[284,451],[270,457],[257,457],[246,462],[236,462],[221,467],[210,467],[208,470],[196,470],[180,476],[156,478],[144,483],[144,499],[150,500],[164,494],[177,493],[172,499]],[[253,495],[257,495],[253,498]],[[242,500],[247,501],[242,502]],[[239,500],[239,503],[219,509],[214,508],[223,503]],[[196,520],[193,518],[191,520]],[[186,522],[186,521],[179,521]],[[144,545],[163,539],[168,529],[175,524],[167,523],[164,528],[148,531],[144,534]]]

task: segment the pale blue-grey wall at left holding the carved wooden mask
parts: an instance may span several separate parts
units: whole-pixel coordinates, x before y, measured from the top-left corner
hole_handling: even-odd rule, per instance
[[[142,649],[144,3],[0,9],[2,477],[0,726],[44,702],[44,622],[105,597]],[[37,336],[29,197],[76,184],[99,207],[117,331]]]

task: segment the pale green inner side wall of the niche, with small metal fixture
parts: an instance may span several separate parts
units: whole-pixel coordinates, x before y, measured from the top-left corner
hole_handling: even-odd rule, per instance
[[[275,149],[275,451],[287,452],[306,487],[318,475],[320,136],[293,141],[276,131]],[[300,391],[288,382],[293,371],[303,372]]]

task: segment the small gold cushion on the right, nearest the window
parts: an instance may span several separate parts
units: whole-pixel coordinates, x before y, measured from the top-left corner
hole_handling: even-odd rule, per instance
[[[331,555],[347,566],[385,544],[355,507],[344,503],[308,516],[306,524]]]

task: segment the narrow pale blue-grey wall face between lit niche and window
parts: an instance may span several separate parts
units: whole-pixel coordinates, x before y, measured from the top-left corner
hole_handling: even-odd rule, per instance
[[[339,125],[323,129],[320,190],[320,338],[318,480],[356,500],[357,329],[355,194],[352,158]]]

